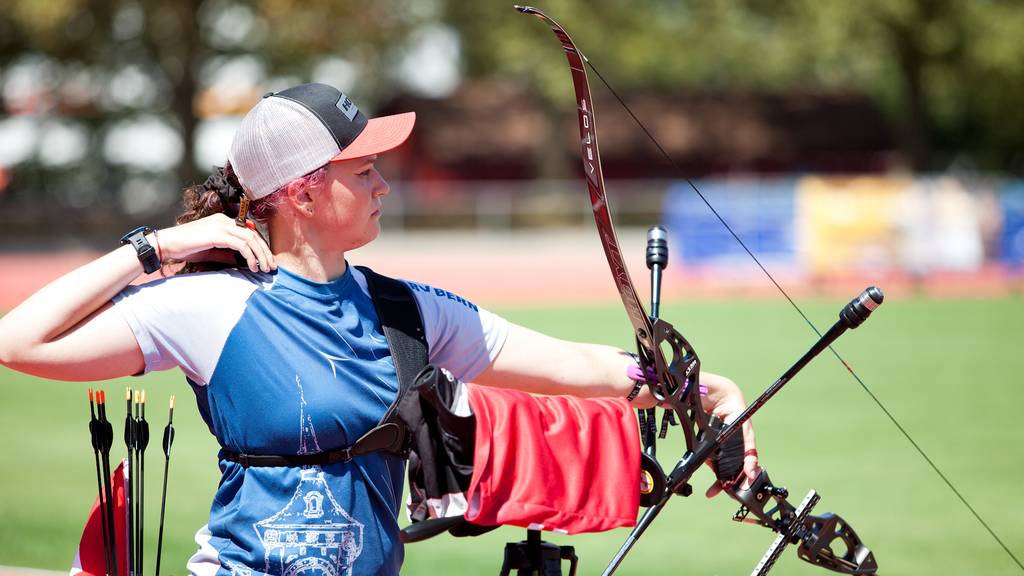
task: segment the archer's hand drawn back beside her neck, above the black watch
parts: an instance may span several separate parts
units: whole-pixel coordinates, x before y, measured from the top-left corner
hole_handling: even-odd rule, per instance
[[[151,235],[164,259],[236,264],[241,254],[252,272],[278,268],[270,247],[256,231],[240,227],[222,213],[163,229]]]

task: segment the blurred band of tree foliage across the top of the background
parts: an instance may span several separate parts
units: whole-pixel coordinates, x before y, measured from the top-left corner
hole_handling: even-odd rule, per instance
[[[967,159],[982,169],[1024,170],[1017,0],[560,0],[545,8],[621,91],[866,93],[901,130],[914,168]],[[180,135],[177,168],[162,176],[165,189],[177,190],[199,179],[202,119],[237,115],[264,89],[316,79],[349,87],[373,109],[422,72],[407,60],[430,28],[457,34],[463,78],[529,86],[542,95],[547,125],[565,118],[564,67],[538,65],[559,61],[559,47],[510,4],[0,0],[5,85],[7,73],[29,61],[43,90],[30,94],[34,108],[17,110],[5,92],[5,113],[73,117],[90,134],[82,166],[52,167],[37,151],[14,169],[10,189],[65,178],[56,188],[91,187],[118,206],[125,178],[140,168],[109,166],[104,137],[119,122],[150,116]],[[228,74],[240,61],[246,73]],[[232,89],[226,99],[206,97]],[[572,164],[551,135],[539,138],[537,164],[544,175],[564,175]],[[88,202],[79,195],[66,204]]]

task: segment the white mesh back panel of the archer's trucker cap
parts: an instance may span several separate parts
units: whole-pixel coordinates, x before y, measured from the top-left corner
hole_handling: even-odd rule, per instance
[[[313,113],[270,96],[242,119],[227,159],[256,200],[327,164],[338,152],[338,143]]]

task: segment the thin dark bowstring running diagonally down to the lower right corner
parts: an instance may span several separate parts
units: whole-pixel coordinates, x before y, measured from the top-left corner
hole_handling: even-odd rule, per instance
[[[604,86],[608,89],[608,91],[611,92],[611,94],[615,97],[616,100],[618,100],[618,104],[623,107],[624,110],[626,110],[627,114],[629,114],[630,117],[633,118],[633,121],[636,122],[637,126],[639,126],[640,129],[643,130],[645,134],[647,134],[647,137],[654,145],[654,147],[656,147],[657,150],[662,153],[662,156],[665,157],[665,159],[669,162],[669,164],[672,165],[673,168],[675,168],[676,173],[682,175],[683,174],[682,167],[680,167],[679,164],[676,162],[676,160],[672,158],[672,156],[668,152],[666,152],[664,148],[662,148],[662,145],[657,141],[657,138],[655,138],[654,135],[651,134],[650,130],[647,129],[647,126],[644,125],[644,123],[641,122],[640,119],[637,118],[635,114],[633,114],[633,110],[630,109],[629,105],[627,105],[626,101],[622,98],[622,96],[618,95],[618,92],[616,92],[615,89],[611,87],[611,84],[608,84],[608,81],[604,79],[604,76],[601,75],[601,72],[598,71],[596,67],[594,67],[594,65],[590,61],[590,59],[585,57],[584,61],[586,61],[587,66],[594,71],[594,74],[596,74],[597,77],[601,79],[601,83],[604,84]],[[696,193],[696,195],[700,198],[700,200],[705,203],[705,205],[708,206],[708,209],[711,210],[713,214],[715,214],[715,217],[718,218],[718,221],[722,222],[722,225],[725,227],[725,230],[729,231],[729,234],[732,236],[732,238],[735,239],[735,241],[738,242],[740,246],[742,246],[743,250],[748,253],[748,255],[750,255],[751,258],[754,259],[754,261],[758,264],[758,268],[761,269],[761,272],[763,272],[765,276],[768,277],[768,280],[770,280],[771,283],[775,285],[775,288],[778,289],[779,293],[781,293],[782,296],[784,296],[785,299],[788,300],[790,305],[792,305],[793,308],[797,311],[797,314],[799,314],[800,317],[804,319],[804,322],[806,322],[807,325],[811,327],[811,330],[813,330],[814,333],[817,334],[818,337],[820,338],[821,331],[818,330],[818,327],[815,326],[813,322],[811,322],[811,319],[808,318],[807,315],[804,314],[804,311],[797,304],[797,302],[794,301],[792,297],[790,297],[790,294],[786,293],[786,291],[782,288],[782,286],[775,280],[775,277],[773,277],[771,273],[768,272],[768,269],[766,269],[765,265],[761,263],[761,260],[746,246],[746,243],[739,238],[739,235],[737,235],[735,231],[732,230],[732,227],[730,227],[729,223],[725,220],[725,218],[722,217],[722,214],[720,214],[719,211],[715,208],[715,206],[712,205],[712,203],[708,200],[708,198],[703,195],[703,193],[700,192],[700,190],[696,187],[696,184],[693,183],[693,181],[690,178],[686,176],[682,177],[686,181],[686,183],[689,184],[689,187],[693,190],[693,192]],[[924,458],[926,462],[928,462],[928,465],[930,465],[932,469],[935,470],[935,474],[937,474],[939,478],[942,479],[942,482],[944,482],[946,486],[949,487],[949,490],[951,490],[952,493],[955,494],[956,497],[959,499],[959,501],[964,503],[967,509],[969,509],[971,513],[974,515],[974,518],[977,519],[978,523],[981,524],[985,528],[985,530],[988,531],[989,535],[991,535],[992,538],[996,542],[998,542],[998,544],[1002,547],[1004,551],[1006,551],[1007,554],[1014,561],[1014,563],[1016,563],[1017,566],[1021,569],[1021,571],[1024,572],[1024,564],[1021,564],[1021,561],[1018,560],[1017,557],[1014,556],[1012,551],[1010,551],[1010,548],[1002,542],[1002,539],[995,534],[995,531],[992,530],[992,528],[988,525],[988,523],[981,518],[981,515],[979,515],[978,511],[974,509],[974,506],[972,506],[967,501],[967,498],[965,498],[964,495],[961,494],[961,491],[957,490],[955,486],[953,486],[953,483],[950,482],[948,478],[946,478],[946,475],[944,475],[942,470],[939,469],[939,466],[935,464],[935,462],[928,456],[928,454],[925,453],[925,450],[913,440],[913,438],[910,437],[910,434],[906,431],[906,428],[904,428],[903,425],[900,424],[898,420],[896,420],[896,417],[893,416],[892,412],[890,412],[889,409],[886,408],[884,404],[882,404],[882,401],[879,400],[879,397],[874,396],[874,393],[872,393],[870,388],[867,387],[867,384],[865,384],[864,381],[860,379],[860,376],[858,376],[857,373],[853,370],[853,367],[851,367],[850,364],[846,360],[844,360],[842,356],[840,356],[839,352],[837,352],[831,344],[828,344],[828,351],[833,353],[833,355],[836,357],[837,360],[840,361],[840,363],[843,364],[843,366],[847,369],[850,375],[853,376],[853,379],[856,380],[858,384],[860,384],[860,387],[862,387],[864,392],[867,393],[867,396],[869,396],[871,400],[874,401],[874,404],[878,405],[878,407],[882,410],[882,412],[889,417],[889,420],[893,423],[893,425],[895,425],[896,428],[903,435],[903,437],[906,438],[907,442],[910,443],[910,446],[912,446],[913,449],[916,450],[919,454],[921,454],[921,457]]]

